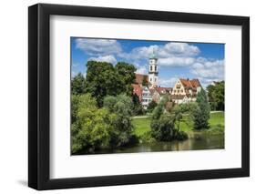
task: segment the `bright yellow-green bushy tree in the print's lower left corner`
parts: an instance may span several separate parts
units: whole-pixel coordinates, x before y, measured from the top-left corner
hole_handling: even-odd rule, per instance
[[[88,94],[73,99],[73,103],[77,103],[77,116],[71,126],[72,154],[109,148],[117,116],[106,108],[97,108],[96,99]]]

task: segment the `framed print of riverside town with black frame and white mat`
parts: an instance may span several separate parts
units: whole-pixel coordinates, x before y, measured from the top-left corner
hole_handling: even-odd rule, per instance
[[[28,185],[247,177],[250,19],[28,8]]]

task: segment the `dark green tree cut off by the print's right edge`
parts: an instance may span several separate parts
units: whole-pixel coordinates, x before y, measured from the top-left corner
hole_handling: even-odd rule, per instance
[[[224,110],[225,108],[225,82],[216,82],[207,87],[211,110]]]

